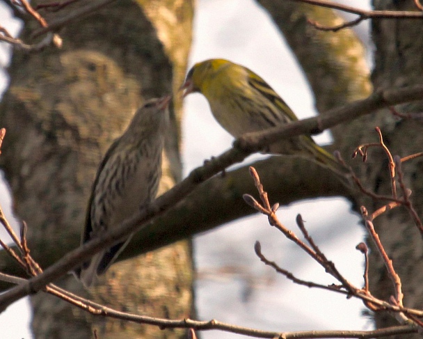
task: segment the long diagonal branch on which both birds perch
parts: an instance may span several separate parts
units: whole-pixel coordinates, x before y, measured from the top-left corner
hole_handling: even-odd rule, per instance
[[[48,283],[66,274],[67,271],[77,267],[79,263],[89,258],[97,251],[110,247],[121,239],[128,237],[132,232],[145,228],[147,221],[166,212],[170,207],[179,203],[193,189],[213,175],[223,171],[225,168],[237,162],[243,161],[248,155],[261,150],[264,145],[277,140],[288,139],[300,134],[317,132],[321,129],[333,127],[347,120],[353,120],[358,116],[372,113],[377,109],[389,107],[392,104],[400,104],[410,100],[423,99],[423,86],[409,86],[401,89],[378,90],[365,100],[359,100],[339,109],[332,109],[328,113],[283,127],[269,129],[266,132],[251,133],[241,136],[234,142],[234,147],[224,152],[219,157],[208,161],[207,164],[195,168],[189,176],[175,185],[165,194],[154,200],[154,202],[141,212],[138,212],[130,219],[123,221],[119,227],[113,228],[102,236],[88,242],[79,249],[70,251],[51,265],[45,271],[35,276],[26,283],[13,287],[8,292],[0,295],[0,310],[4,310],[11,303],[42,290]]]

